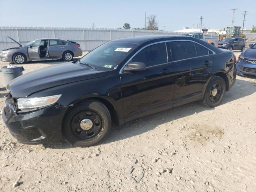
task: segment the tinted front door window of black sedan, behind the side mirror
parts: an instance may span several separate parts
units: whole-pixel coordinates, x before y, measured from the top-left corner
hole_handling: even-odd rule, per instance
[[[158,43],[144,48],[132,59],[132,62],[143,62],[147,67],[167,63],[165,43]]]

